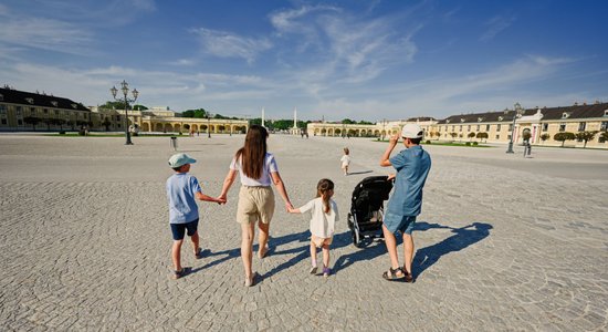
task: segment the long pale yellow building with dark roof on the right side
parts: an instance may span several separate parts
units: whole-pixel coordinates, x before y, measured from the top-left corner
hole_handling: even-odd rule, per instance
[[[398,133],[406,123],[417,123],[424,131],[424,139],[509,143],[513,135],[515,144],[521,144],[522,133],[530,131],[531,144],[560,146],[555,141],[557,133],[596,132],[587,147],[608,148],[601,133],[608,131],[608,103],[575,104],[560,107],[534,107],[516,111],[485,112],[451,115],[444,120],[432,117],[412,117],[406,121],[382,121],[371,125],[340,123],[310,123],[308,135],[356,137],[385,137]],[[488,138],[478,138],[480,133]],[[584,141],[566,141],[565,146],[583,147]]]

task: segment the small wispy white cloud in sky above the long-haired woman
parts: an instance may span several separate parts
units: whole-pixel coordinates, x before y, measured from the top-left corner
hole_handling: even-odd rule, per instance
[[[211,30],[192,29],[199,37],[202,52],[219,58],[242,58],[248,63],[253,63],[258,55],[270,48],[272,43],[265,38],[244,38],[234,33]]]

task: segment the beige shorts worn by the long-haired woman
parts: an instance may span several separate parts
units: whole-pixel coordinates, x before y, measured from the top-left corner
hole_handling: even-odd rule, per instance
[[[269,224],[273,215],[274,191],[271,187],[241,186],[237,221],[249,224],[260,220],[263,224]]]

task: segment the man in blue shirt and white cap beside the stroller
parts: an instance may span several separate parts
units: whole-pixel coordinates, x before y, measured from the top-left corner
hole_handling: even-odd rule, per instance
[[[407,124],[401,129],[401,137],[406,149],[399,152],[392,158],[390,154],[399,135],[390,137],[385,154],[380,158],[380,166],[392,166],[397,170],[395,176],[395,191],[388,200],[385,214],[382,231],[385,242],[390,256],[390,269],[384,272],[386,280],[413,281],[411,273],[411,262],[413,259],[413,238],[411,231],[416,224],[416,217],[420,215],[422,206],[422,188],[431,168],[431,157],[420,146],[423,132],[417,124]],[[399,266],[397,255],[397,240],[395,234],[400,231],[403,236],[403,268]]]

